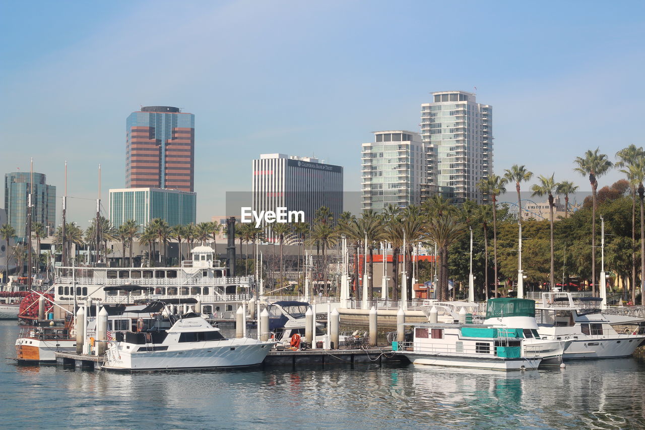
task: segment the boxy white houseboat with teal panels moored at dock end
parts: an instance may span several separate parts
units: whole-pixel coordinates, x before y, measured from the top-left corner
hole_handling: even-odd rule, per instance
[[[392,345],[413,364],[516,371],[537,369],[542,361],[522,347],[524,338],[516,329],[424,323],[414,325],[413,332],[412,342]]]

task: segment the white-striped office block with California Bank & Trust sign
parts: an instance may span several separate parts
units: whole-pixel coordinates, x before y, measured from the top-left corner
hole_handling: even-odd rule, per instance
[[[310,223],[326,206],[337,220],[342,212],[342,167],[317,158],[261,154],[253,160],[252,192],[252,209],[257,213],[279,207],[302,210],[304,221]]]

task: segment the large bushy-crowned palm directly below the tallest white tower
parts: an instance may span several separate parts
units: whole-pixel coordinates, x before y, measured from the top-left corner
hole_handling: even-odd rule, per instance
[[[428,239],[437,243],[439,250],[439,285],[435,288],[439,292],[439,300],[448,300],[448,249],[466,232],[466,225],[457,223],[453,214],[444,213],[428,220],[426,232]]]

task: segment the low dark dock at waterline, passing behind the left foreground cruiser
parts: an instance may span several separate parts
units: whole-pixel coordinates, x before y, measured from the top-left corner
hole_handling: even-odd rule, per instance
[[[86,354],[55,353],[56,365],[80,370],[94,370],[103,357]],[[405,356],[392,353],[392,347],[372,347],[368,349],[307,349],[306,351],[270,351],[261,367],[319,366],[341,364],[382,364],[407,362]]]

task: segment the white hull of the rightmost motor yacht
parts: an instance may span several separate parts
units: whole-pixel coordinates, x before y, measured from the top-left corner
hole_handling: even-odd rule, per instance
[[[630,356],[645,340],[645,336],[620,336],[605,339],[579,339],[571,342],[564,351],[564,360],[584,358],[620,358]]]

